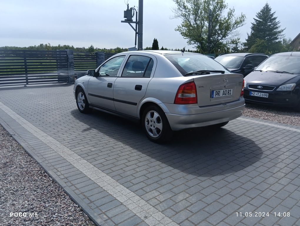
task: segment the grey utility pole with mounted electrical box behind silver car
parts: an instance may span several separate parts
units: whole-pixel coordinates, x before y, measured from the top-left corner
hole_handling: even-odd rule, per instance
[[[143,0],[139,0],[138,10],[139,12],[134,7],[129,8],[127,4],[127,10],[124,11],[124,18],[126,19],[121,21],[121,23],[128,23],[135,31],[135,47],[128,48],[128,50],[143,50]],[[132,11],[136,12],[136,21],[132,20]],[[139,13],[139,18],[137,17],[137,13]],[[135,29],[131,23],[135,23]]]

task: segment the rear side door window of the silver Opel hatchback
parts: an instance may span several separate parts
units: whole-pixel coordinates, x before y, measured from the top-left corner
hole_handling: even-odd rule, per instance
[[[122,77],[150,77],[154,61],[148,56],[132,55],[128,58]]]

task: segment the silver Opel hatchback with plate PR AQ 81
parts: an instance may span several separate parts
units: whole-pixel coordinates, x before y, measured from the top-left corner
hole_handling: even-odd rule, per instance
[[[172,131],[226,125],[241,116],[244,80],[197,53],[149,50],[118,53],[74,84],[78,110],[97,109],[141,122],[162,142]]]

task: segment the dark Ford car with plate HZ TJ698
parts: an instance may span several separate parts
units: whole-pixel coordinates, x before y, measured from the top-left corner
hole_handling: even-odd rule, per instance
[[[244,80],[245,101],[300,111],[300,52],[276,53]]]

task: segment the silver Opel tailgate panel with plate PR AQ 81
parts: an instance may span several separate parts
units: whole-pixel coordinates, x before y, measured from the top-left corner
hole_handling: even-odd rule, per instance
[[[198,106],[204,107],[237,101],[241,95],[243,75],[209,74],[194,76]]]

